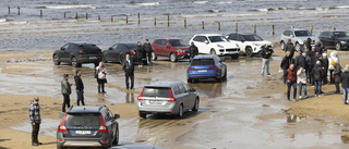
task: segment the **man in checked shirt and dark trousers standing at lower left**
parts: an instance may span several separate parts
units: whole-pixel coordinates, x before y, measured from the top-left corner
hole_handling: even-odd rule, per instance
[[[41,124],[40,104],[38,97],[35,97],[31,102],[29,119],[32,124],[32,146],[43,145],[43,142],[39,142],[39,140],[37,139]]]

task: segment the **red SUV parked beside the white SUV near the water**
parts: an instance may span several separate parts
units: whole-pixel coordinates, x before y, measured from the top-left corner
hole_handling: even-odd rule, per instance
[[[171,62],[189,58],[189,45],[182,39],[155,39],[152,49],[153,60],[157,60],[158,55],[168,57]]]

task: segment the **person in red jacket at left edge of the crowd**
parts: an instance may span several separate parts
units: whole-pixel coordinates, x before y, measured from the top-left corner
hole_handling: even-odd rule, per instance
[[[297,72],[294,69],[294,64],[291,64],[290,67],[286,72],[287,76],[287,100],[290,100],[291,86],[293,87],[293,100],[297,101]]]

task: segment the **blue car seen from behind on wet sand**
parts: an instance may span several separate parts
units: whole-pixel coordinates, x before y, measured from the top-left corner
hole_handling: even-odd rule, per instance
[[[227,79],[227,65],[218,55],[196,55],[191,61],[186,75],[188,83],[206,78],[214,78],[220,83]]]

